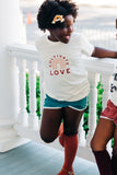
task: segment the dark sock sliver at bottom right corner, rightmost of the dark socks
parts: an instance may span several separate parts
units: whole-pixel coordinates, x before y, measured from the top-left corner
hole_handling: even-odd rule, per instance
[[[117,175],[117,154],[113,152],[112,158],[113,175]]]

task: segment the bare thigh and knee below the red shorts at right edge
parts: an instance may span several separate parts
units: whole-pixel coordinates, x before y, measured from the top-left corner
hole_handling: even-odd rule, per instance
[[[114,122],[109,119],[101,118],[95,133],[91,141],[91,148],[93,151],[102,151],[106,148],[107,142],[112,139],[114,135]]]

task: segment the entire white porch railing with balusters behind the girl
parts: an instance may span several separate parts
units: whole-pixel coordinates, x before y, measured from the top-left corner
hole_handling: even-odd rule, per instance
[[[39,137],[39,124],[40,119],[36,115],[36,75],[40,75],[40,110],[44,101],[44,92],[42,89],[42,67],[38,54],[33,46],[25,45],[12,45],[8,47],[8,52],[11,58],[11,62],[17,68],[17,79],[19,79],[19,112],[15,117],[14,128],[19,136],[34,140],[36,142],[42,142]],[[94,133],[96,127],[96,102],[97,92],[96,85],[100,74],[102,74],[102,83],[104,86],[103,94],[103,106],[105,106],[108,97],[109,78],[113,73],[114,67],[117,63],[114,59],[98,59],[90,58],[82,60],[85,69],[87,71],[87,78],[90,82],[90,94],[89,94],[89,132],[85,137],[82,124],[79,129],[79,150],[78,155],[86,160],[94,161],[90,149],[90,141]],[[30,84],[30,115],[26,112],[26,72],[28,72],[28,84]],[[42,112],[40,112],[42,113]],[[58,140],[48,145],[55,147],[57,149],[62,149]],[[108,147],[110,149],[110,147]]]

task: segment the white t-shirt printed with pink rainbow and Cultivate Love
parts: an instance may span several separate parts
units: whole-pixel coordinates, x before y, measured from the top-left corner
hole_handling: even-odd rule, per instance
[[[91,56],[94,46],[83,35],[73,33],[70,42],[50,42],[47,35],[36,42],[44,71],[44,91],[58,101],[79,101],[89,94],[83,55]]]

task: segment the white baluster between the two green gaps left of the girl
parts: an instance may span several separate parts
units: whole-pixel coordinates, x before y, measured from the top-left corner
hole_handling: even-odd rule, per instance
[[[30,117],[28,127],[38,127],[38,117],[36,115],[36,62],[27,61],[28,67],[28,86],[30,86]]]

